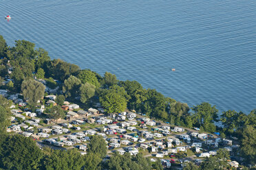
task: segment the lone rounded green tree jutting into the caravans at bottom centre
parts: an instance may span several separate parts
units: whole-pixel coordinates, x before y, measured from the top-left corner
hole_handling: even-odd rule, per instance
[[[102,136],[95,135],[90,139],[88,146],[88,153],[98,154],[100,158],[104,158],[107,154],[107,147]]]

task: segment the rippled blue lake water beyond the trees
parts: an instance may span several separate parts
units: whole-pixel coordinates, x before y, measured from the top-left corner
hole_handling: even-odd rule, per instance
[[[256,1],[0,4],[0,34],[8,45],[30,40],[51,58],[137,80],[189,106],[207,101],[220,111],[256,108]]]

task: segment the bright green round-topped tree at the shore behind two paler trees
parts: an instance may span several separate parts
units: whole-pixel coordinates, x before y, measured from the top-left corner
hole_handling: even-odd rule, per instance
[[[100,87],[96,74],[92,71],[82,70],[78,73],[77,77],[83,84],[89,83],[96,86],[96,88]]]

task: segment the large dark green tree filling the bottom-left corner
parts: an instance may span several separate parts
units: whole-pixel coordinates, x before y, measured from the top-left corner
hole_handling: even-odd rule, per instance
[[[43,156],[32,138],[19,134],[1,138],[0,167],[3,169],[39,169]]]

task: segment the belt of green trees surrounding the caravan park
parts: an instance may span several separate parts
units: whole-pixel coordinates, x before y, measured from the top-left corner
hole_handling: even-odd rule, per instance
[[[227,110],[218,115],[217,107],[206,102],[190,108],[155,89],[143,88],[135,80],[119,81],[108,72],[101,76],[89,69],[80,69],[76,64],[51,60],[45,49],[35,49],[34,43],[27,40],[16,40],[14,47],[9,47],[0,36],[0,58],[0,88],[10,94],[21,94],[32,112],[43,105],[43,96],[50,95],[45,93],[42,84],[45,82],[46,88],[54,91],[58,98],[57,106],[45,110],[49,119],[64,118],[60,110],[65,100],[84,109],[100,103],[105,114],[136,110],[137,114],[171,126],[198,127],[200,132],[217,132],[222,138],[235,137],[240,146],[237,154],[244,158],[244,165],[256,164],[255,109],[250,113]],[[0,95],[0,169],[162,169],[159,161],[152,163],[142,154],[116,155],[103,161],[107,147],[100,136],[91,138],[85,156],[76,149],[39,149],[31,138],[6,132],[12,115],[11,105],[12,101]],[[216,122],[222,125],[216,126]],[[221,159],[186,166],[186,169],[211,169],[211,165]],[[224,169],[224,165],[214,169]]]

